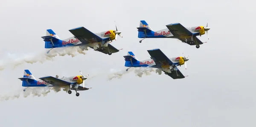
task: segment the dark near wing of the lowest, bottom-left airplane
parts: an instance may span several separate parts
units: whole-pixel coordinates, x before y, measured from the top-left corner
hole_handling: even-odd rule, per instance
[[[70,82],[67,82],[67,81],[64,81],[64,80],[61,80],[61,79],[57,79],[57,78],[52,77],[52,76],[41,77],[39,79],[41,79],[44,82],[47,82],[51,85],[63,86],[63,85],[70,85],[71,84]]]

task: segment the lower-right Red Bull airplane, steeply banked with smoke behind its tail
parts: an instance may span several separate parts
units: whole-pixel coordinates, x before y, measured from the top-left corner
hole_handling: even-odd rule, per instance
[[[151,59],[146,59],[139,61],[133,52],[128,51],[125,58],[125,67],[137,68],[137,67],[149,67],[149,68],[160,68],[166,75],[172,77],[172,79],[183,79],[185,76],[180,72],[177,66],[184,65],[186,66],[186,61],[188,57],[178,56],[173,58],[168,58],[160,49],[147,50],[150,54]],[[184,54],[183,54],[184,55]],[[128,68],[128,69],[129,69]],[[128,71],[126,69],[126,71]]]

